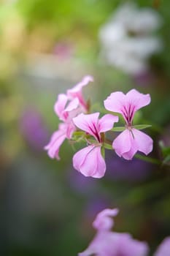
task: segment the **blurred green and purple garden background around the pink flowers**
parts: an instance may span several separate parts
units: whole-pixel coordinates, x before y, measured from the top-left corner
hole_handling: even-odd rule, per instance
[[[147,241],[170,235],[170,1],[0,1],[0,255],[74,256],[93,238],[104,208],[120,208],[115,230]],[[136,124],[152,124],[150,157],[106,152],[104,178],[72,167],[44,146],[58,129],[53,105],[84,75],[93,111],[112,91],[136,89],[152,102]],[[81,147],[81,146],[80,146]]]

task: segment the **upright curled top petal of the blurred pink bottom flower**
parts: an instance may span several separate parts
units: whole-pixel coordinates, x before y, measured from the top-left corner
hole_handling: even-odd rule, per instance
[[[118,214],[118,209],[104,209],[101,211],[93,222],[93,227],[97,230],[110,230],[114,224],[111,217],[115,217]]]

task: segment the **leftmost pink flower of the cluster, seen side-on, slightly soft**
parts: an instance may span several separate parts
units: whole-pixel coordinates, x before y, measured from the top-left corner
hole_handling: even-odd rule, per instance
[[[93,78],[90,75],[82,78],[73,89],[67,91],[67,94],[59,94],[58,100],[55,102],[54,110],[58,118],[63,121],[59,124],[58,131],[54,132],[50,143],[45,146],[48,155],[51,158],[60,159],[58,153],[63,141],[72,138],[73,132],[77,129],[72,121],[72,118],[80,113],[88,112],[88,105],[82,97],[82,87],[86,86]]]

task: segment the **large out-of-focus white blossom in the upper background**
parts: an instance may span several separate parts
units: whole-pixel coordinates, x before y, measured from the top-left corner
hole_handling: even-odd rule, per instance
[[[153,33],[161,23],[154,10],[124,4],[99,31],[101,57],[131,75],[144,72],[150,56],[162,48],[161,39]]]

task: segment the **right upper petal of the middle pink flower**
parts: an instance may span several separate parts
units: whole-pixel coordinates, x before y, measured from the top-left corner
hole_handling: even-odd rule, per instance
[[[104,115],[98,121],[98,132],[107,132],[112,129],[113,124],[119,120],[118,116]]]

